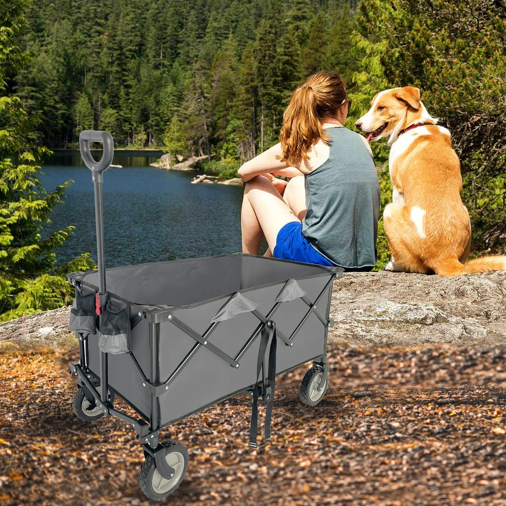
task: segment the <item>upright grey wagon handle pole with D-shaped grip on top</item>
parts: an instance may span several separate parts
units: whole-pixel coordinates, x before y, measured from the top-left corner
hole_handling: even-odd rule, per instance
[[[104,145],[104,152],[100,161],[95,161],[90,153],[90,142],[101,142]],[[93,187],[95,192],[95,221],[97,225],[97,257],[98,257],[98,279],[99,293],[97,294],[96,313],[100,319],[99,328],[102,328],[101,306],[105,304],[105,253],[104,253],[104,212],[102,204],[102,173],[112,163],[114,156],[114,141],[109,132],[85,130],[79,135],[79,150],[82,160],[92,171]],[[103,403],[108,401],[108,367],[107,353],[100,352],[100,398]]]

